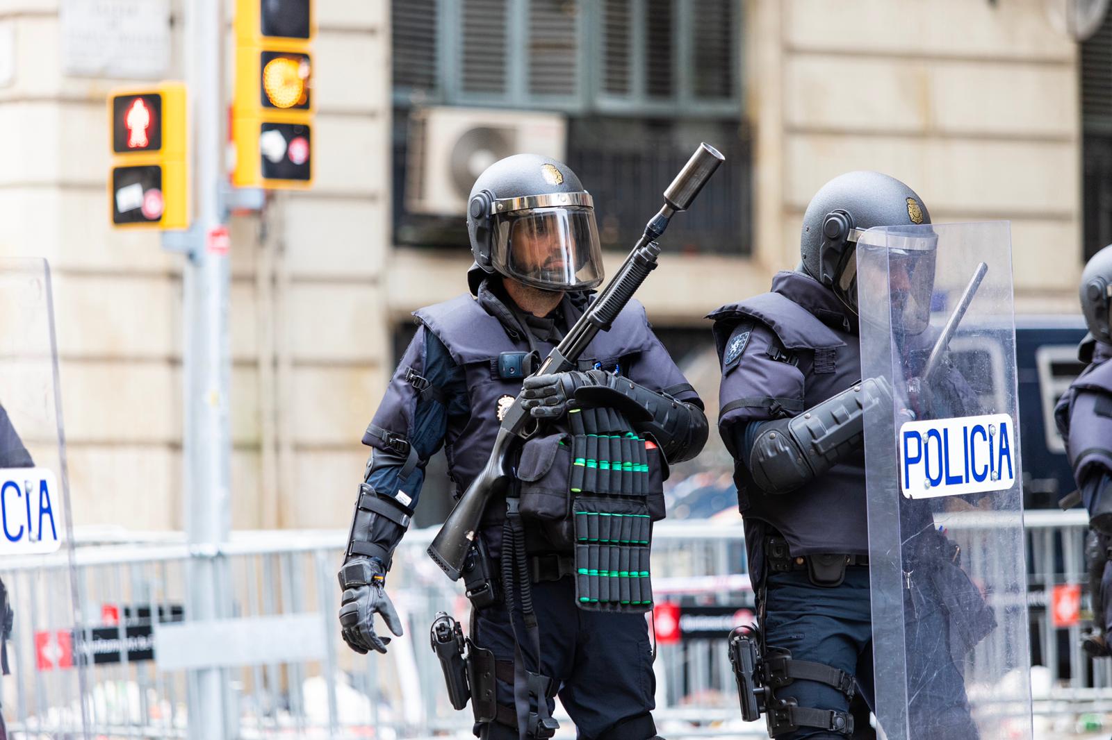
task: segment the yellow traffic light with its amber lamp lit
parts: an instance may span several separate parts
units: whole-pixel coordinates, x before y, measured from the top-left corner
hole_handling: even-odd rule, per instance
[[[236,1],[236,186],[312,183],[312,0]]]

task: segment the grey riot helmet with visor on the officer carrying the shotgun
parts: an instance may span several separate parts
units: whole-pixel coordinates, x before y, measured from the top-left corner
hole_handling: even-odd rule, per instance
[[[514,154],[484,170],[471,188],[467,234],[473,293],[492,272],[544,290],[587,290],[603,281],[594,200],[554,159]]]

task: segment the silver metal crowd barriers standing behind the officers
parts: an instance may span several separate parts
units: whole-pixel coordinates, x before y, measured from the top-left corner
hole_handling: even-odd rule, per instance
[[[1055,627],[1050,609],[1055,586],[1085,582],[1084,512],[1029,512],[1025,526],[1032,649],[1041,667],[1036,714],[1112,711],[1112,661],[1090,661],[1079,647],[1081,628]],[[127,541],[79,534],[80,628],[62,606],[69,603],[64,554],[33,570],[6,562],[0,578],[14,629],[11,674],[0,691],[9,732],[81,737],[83,694],[91,737],[186,737],[197,711],[188,668],[211,656],[229,679],[229,737],[470,737],[470,711],[449,707],[426,637],[436,611],[465,626],[468,611],[459,586],[425,556],[433,534],[410,532],[399,548],[388,586],[406,636],[391,641],[387,656],[370,657],[348,650],[338,633],[336,570],[346,532],[237,532],[217,551],[190,548],[180,534]],[[741,721],[725,651],[728,626],[752,609],[744,544],[733,523],[656,528],[656,601],[679,604],[678,627],[694,636],[658,641],[655,717],[665,737],[766,737],[763,722]],[[186,587],[197,558],[222,563],[224,582],[214,589],[234,629],[216,634],[190,621]],[[669,619],[657,614],[657,622]],[[663,636],[677,626],[655,627]],[[73,668],[82,663],[83,687]],[[573,737],[566,714],[557,717],[560,736]]]

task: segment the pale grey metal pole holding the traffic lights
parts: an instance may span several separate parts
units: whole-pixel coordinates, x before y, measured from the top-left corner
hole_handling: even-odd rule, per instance
[[[190,0],[186,8],[186,81],[191,110],[193,222],[185,271],[185,513],[195,557],[189,568],[189,619],[220,619],[227,603],[224,562],[210,557],[230,529],[229,480],[231,434],[228,390],[231,376],[228,340],[228,257],[209,252],[208,234],[225,221],[221,192],[227,116],[224,96],[224,20],[221,0]],[[227,738],[225,707],[228,681],[220,668],[196,671],[189,682],[189,737]]]

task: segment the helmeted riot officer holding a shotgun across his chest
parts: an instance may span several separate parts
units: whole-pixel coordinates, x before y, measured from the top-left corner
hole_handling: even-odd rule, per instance
[[[560,162],[517,154],[492,164],[475,182],[467,227],[475,257],[468,272],[471,294],[415,312],[420,327],[363,438],[374,450],[339,573],[344,639],[358,652],[386,651],[389,638],[376,632],[376,613],[401,634],[386,574],[417,506],[426,461],[444,444],[449,477],[457,491],[466,490],[486,463],[499,419],[523,389],[523,378],[575,322],[603,279],[592,197]],[[652,440],[644,443],[663,451],[667,461],[699,452],[707,436],[702,402],[653,334],[639,303],[632,302],[609,331],[595,337],[579,368],[528,378],[530,414],[544,424],[559,422],[575,408],[569,401],[576,389],[620,379],[624,396],[644,411],[634,437]],[[553,459],[563,439],[538,437],[552,446],[530,456],[532,483],[559,467]],[[524,478],[524,459],[520,466]],[[548,516],[570,516],[566,469],[563,474],[562,490],[545,491],[556,502]],[[500,562],[514,547],[504,542],[506,509],[505,499],[487,507],[464,573],[473,602],[473,650],[490,659],[496,677],[493,719],[481,717],[473,701],[476,733],[548,737],[558,693],[580,738],[655,736],[644,616],[577,609],[576,571],[558,542],[558,521],[533,522],[526,530],[527,588],[539,639],[538,644],[518,639],[526,631],[520,613],[498,601],[505,583],[497,581],[519,577]],[[473,698],[476,693],[473,686]]]

